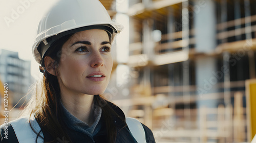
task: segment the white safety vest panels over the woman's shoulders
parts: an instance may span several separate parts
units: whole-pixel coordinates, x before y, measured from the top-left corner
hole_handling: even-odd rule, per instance
[[[41,130],[41,128],[38,125],[38,123],[36,122],[34,116],[31,118],[30,122],[31,122],[33,129],[36,132],[39,132]],[[33,132],[33,130],[31,129],[29,122],[28,122],[28,117],[18,118],[16,120],[10,122],[10,124],[12,125],[12,127],[14,129],[14,132],[17,136],[19,143],[35,142],[37,134],[35,134]],[[133,137],[137,140],[138,143],[146,143],[145,131],[143,129],[143,126],[137,119],[131,118],[131,117],[126,117],[126,124],[129,127]],[[42,137],[44,137],[42,132],[40,133],[40,135]],[[44,139],[42,139],[41,137],[38,137],[37,142],[38,143],[44,142]]]

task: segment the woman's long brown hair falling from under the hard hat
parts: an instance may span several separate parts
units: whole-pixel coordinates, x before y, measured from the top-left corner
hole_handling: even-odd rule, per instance
[[[54,67],[56,69],[60,60],[62,45],[72,36],[73,34],[69,34],[59,38],[50,46],[49,50],[45,54],[55,60]],[[44,60],[42,60],[41,65],[44,67]],[[55,71],[57,72],[57,70]],[[117,130],[114,124],[114,116],[119,116],[108,104],[108,101],[101,95],[94,96],[94,103],[102,108],[102,116],[104,117],[108,142],[115,142]],[[54,138],[54,140],[50,142],[57,142],[57,138],[63,137],[65,140],[72,142],[68,135],[68,128],[66,127],[66,124],[60,120],[62,110],[60,105],[60,88],[56,76],[45,71],[41,83],[37,83],[34,96],[27,104],[22,115],[27,114],[29,114],[30,117],[33,114],[41,127],[41,131],[44,130],[48,132],[51,137]],[[121,120],[124,121],[123,119]],[[33,128],[32,130],[37,134],[37,142],[38,137],[41,137],[41,131],[38,133]]]

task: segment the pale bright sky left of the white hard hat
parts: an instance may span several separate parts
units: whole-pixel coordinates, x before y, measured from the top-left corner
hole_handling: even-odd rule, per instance
[[[32,55],[32,45],[41,16],[56,0],[1,0],[0,49],[19,53],[19,58],[31,61],[31,75],[40,78],[38,63]]]

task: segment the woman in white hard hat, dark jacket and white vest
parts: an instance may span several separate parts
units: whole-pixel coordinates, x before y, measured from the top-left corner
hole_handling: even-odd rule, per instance
[[[22,117],[1,126],[1,141],[155,142],[150,129],[100,96],[110,80],[112,42],[121,30],[98,0],[52,7],[33,45],[44,73],[41,88]]]

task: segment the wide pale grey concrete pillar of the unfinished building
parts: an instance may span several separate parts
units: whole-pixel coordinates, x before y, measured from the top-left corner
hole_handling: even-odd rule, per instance
[[[215,2],[212,0],[195,1],[195,38],[198,53],[214,52],[216,43]],[[204,94],[217,92],[216,84],[219,76],[216,57],[202,56],[196,58],[196,85],[199,99]],[[221,71],[220,71],[221,72]],[[222,77],[223,78],[223,74]],[[217,101],[197,101],[198,107],[217,107]]]

